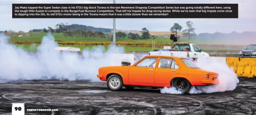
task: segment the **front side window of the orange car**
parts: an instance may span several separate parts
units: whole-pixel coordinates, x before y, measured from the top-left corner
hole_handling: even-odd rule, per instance
[[[146,67],[146,68],[154,68],[156,66],[157,58],[146,58],[138,63],[135,67]]]

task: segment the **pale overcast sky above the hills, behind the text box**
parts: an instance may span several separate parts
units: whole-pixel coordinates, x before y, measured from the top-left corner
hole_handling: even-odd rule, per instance
[[[113,28],[113,19],[12,19],[12,3],[113,3],[113,0],[0,0],[0,31],[29,31],[54,27],[58,23],[83,24],[87,26]],[[116,19],[116,29],[169,31],[174,23],[186,27],[186,21],[194,23],[196,33],[230,33],[232,31],[256,31],[256,0],[116,0],[116,3],[238,3],[239,18],[234,19]]]

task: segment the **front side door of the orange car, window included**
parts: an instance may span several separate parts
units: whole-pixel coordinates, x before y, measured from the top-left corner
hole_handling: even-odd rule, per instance
[[[129,84],[155,84],[154,71],[158,58],[148,57],[129,68]]]

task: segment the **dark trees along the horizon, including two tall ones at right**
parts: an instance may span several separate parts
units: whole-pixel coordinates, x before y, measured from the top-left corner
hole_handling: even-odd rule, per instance
[[[182,31],[182,35],[185,37],[188,37],[188,39],[193,39],[195,38],[195,28],[193,28],[193,22],[187,21],[186,22],[187,28],[182,30],[182,26],[180,26],[178,23],[174,23],[173,26],[171,27],[170,31],[174,34]],[[41,32],[41,33],[46,33],[46,32],[51,32],[51,33],[62,33],[65,38],[82,38],[82,39],[89,39],[89,38],[106,38],[106,39],[113,39],[113,34],[104,34],[104,33],[112,33],[113,29],[106,29],[106,28],[96,28],[93,26],[86,26],[86,25],[79,25],[79,24],[56,24],[55,29],[52,27],[48,27],[47,29],[32,29],[29,31],[30,34],[32,32]],[[5,34],[9,31],[4,31]],[[136,33],[124,33],[124,32],[116,32],[116,39],[124,39],[124,38],[129,38],[129,39],[150,39],[150,34],[149,30],[146,28],[143,28],[142,31],[140,31],[141,34],[136,34]],[[18,33],[21,33],[20,31]],[[177,36],[179,39],[179,36]]]

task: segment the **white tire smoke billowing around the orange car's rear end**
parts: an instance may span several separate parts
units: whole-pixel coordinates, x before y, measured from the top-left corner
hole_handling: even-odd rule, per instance
[[[199,58],[195,64],[203,70],[219,73],[219,84],[212,86],[197,86],[197,88],[193,86],[189,91],[190,94],[232,91],[239,83],[238,76],[235,72],[229,68],[227,64],[220,62],[217,58]],[[165,87],[164,89],[161,89],[161,93],[181,94],[181,91],[177,91],[172,87]]]

